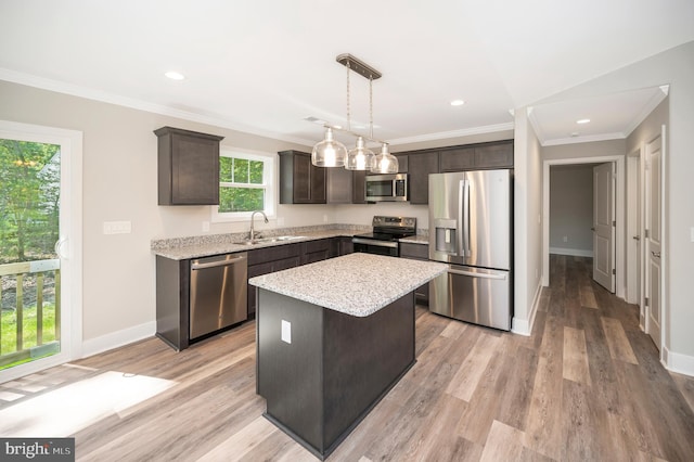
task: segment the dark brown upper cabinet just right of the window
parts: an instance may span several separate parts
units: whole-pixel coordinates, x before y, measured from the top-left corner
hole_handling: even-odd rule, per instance
[[[300,151],[280,153],[280,204],[325,204],[325,168]]]

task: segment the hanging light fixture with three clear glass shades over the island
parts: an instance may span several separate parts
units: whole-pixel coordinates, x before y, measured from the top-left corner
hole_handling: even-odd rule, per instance
[[[347,129],[325,124],[325,139],[313,146],[311,163],[319,167],[342,167],[348,170],[365,170],[371,172],[397,172],[398,159],[388,153],[388,145],[384,141],[373,138],[373,80],[381,78],[381,73],[351,54],[337,56],[337,62],[347,67]],[[351,131],[350,86],[349,74],[354,70],[369,79],[369,126],[370,136]],[[357,138],[356,146],[347,151],[345,145],[334,139],[333,131],[349,133]],[[382,153],[374,155],[367,147],[365,140],[382,144]],[[376,159],[380,158],[380,163]]]

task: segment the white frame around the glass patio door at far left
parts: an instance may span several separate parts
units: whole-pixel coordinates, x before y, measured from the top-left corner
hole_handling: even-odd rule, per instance
[[[82,132],[0,120],[0,138],[61,146],[60,240],[61,351],[0,372],[0,383],[33,374],[81,357],[82,354]],[[62,256],[61,256],[62,255]]]

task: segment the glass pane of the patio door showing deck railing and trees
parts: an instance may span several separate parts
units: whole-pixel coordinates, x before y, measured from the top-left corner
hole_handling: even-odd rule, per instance
[[[60,145],[0,139],[0,370],[60,351]]]

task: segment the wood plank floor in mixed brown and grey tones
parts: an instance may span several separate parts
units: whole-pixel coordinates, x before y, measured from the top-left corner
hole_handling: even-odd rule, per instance
[[[638,308],[592,282],[590,259],[552,256],[551,271],[529,337],[417,308],[416,364],[329,460],[694,460],[694,378],[663,368]],[[157,394],[69,431],[80,461],[316,460],[261,416],[254,323],[182,352],[151,338],[0,385],[0,435],[29,425],[3,412],[108,371],[156,377]]]

